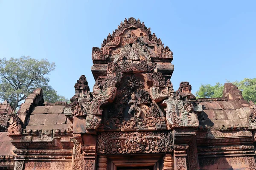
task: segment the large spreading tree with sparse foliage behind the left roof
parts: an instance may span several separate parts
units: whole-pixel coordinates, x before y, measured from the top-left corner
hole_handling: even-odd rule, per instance
[[[22,56],[20,58],[0,59],[0,99],[8,100],[14,108],[36,88],[43,88],[44,99],[56,102],[62,99],[48,83],[46,77],[55,70],[55,63],[47,59],[33,59]]]

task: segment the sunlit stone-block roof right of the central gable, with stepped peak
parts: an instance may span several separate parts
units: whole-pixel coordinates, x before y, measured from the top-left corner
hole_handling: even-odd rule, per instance
[[[225,83],[223,98],[198,99],[203,106],[199,123],[202,126],[218,127],[226,130],[233,127],[248,128],[248,118],[253,111],[253,103],[245,101],[241,91],[232,83]]]

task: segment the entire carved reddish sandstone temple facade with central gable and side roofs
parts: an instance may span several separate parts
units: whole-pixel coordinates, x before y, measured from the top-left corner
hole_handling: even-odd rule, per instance
[[[93,47],[90,91],[82,75],[71,103],[36,89],[17,114],[0,105],[0,169],[255,170],[256,106],[224,85],[222,98],[175,91],[172,51],[125,19]]]

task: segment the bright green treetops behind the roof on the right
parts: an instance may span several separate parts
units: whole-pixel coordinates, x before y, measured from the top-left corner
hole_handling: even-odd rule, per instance
[[[229,82],[229,81],[227,81]],[[242,95],[248,102],[251,100],[256,102],[256,78],[248,79],[245,78],[241,82],[235,81],[234,85],[242,91]],[[198,98],[212,98],[212,97],[222,97],[222,92],[224,90],[224,85],[217,82],[214,86],[206,84],[201,85],[199,90],[195,93]]]

